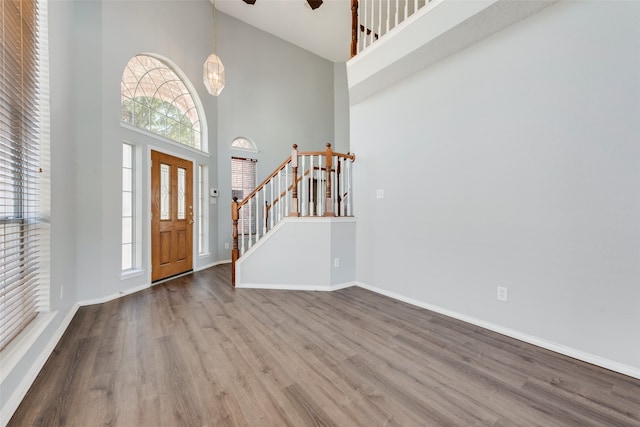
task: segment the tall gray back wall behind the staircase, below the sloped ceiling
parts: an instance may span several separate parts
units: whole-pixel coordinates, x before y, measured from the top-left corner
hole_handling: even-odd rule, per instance
[[[218,252],[231,259],[231,156],[258,159],[258,182],[291,154],[323,150],[334,139],[333,63],[216,14],[217,49],[226,72],[218,100]],[[253,140],[259,153],[229,148],[236,137]]]

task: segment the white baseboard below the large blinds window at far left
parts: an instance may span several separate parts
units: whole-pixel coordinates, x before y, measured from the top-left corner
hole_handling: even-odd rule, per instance
[[[49,339],[46,347],[42,350],[42,353],[40,353],[29,371],[27,371],[27,373],[22,378],[20,385],[18,385],[13,394],[9,396],[4,405],[2,405],[2,408],[0,408],[0,425],[5,426],[9,423],[9,420],[13,416],[13,413],[16,411],[16,409],[18,409],[18,406],[20,406],[20,402],[22,402],[22,399],[24,399],[24,396],[27,394],[29,388],[36,380],[36,377],[42,370],[44,364],[47,362],[47,359],[49,359],[49,356],[51,356],[51,353],[53,353],[56,345],[58,345],[58,341],[60,341],[60,338],[62,338],[62,335],[67,330],[67,327],[69,327],[69,324],[71,323],[71,320],[73,319],[73,316],[75,316],[79,307],[79,304],[75,304],[71,308],[71,310],[69,310],[54,334],[51,336],[51,339]]]

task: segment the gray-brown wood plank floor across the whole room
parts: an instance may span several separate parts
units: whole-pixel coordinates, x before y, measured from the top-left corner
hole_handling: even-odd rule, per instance
[[[361,288],[229,266],[81,308],[10,426],[640,426],[640,380]]]

